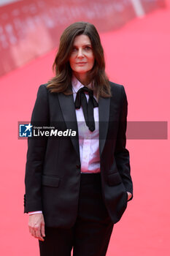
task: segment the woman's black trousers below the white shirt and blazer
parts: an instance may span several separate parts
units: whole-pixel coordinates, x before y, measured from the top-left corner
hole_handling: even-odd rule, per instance
[[[69,213],[68,213],[69,214]],[[41,256],[104,256],[113,224],[101,195],[100,173],[81,174],[77,220],[72,228],[45,227]]]

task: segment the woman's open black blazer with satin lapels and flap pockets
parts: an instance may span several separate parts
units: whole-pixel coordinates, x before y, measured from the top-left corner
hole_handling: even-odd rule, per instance
[[[24,212],[42,210],[45,225],[72,227],[77,217],[80,190],[80,152],[73,95],[50,93],[47,84],[39,87],[31,123],[41,122],[57,129],[77,131],[76,138],[28,138]],[[104,202],[113,223],[133,194],[129,153],[125,148],[127,99],[125,89],[111,83],[112,97],[101,97],[99,151]]]

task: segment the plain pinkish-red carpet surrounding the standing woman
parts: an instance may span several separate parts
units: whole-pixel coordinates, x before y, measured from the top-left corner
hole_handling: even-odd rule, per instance
[[[128,96],[128,121],[170,121],[170,10],[158,10],[101,34],[110,80]],[[10,72],[1,83],[1,255],[39,255],[23,215],[26,140],[39,84],[53,75],[55,50]],[[107,256],[169,256],[169,140],[128,140],[134,200],[115,225]],[[88,255],[87,255],[88,256]]]

